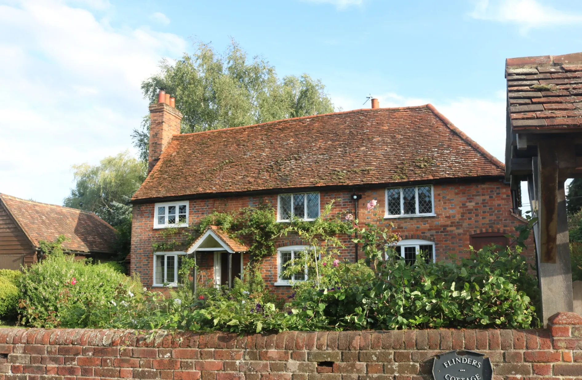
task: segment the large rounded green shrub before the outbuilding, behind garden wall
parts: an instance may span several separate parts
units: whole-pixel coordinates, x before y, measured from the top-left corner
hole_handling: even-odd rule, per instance
[[[53,253],[20,278],[23,322],[35,327],[102,327],[114,303],[138,294],[141,285],[109,265]]]

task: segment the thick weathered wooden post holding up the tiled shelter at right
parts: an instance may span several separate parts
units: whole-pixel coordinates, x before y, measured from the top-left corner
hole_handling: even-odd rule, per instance
[[[560,150],[563,146],[558,144],[558,140],[548,138],[538,143],[538,159],[537,162],[534,159],[533,164],[534,178],[528,186],[530,203],[533,209],[537,205],[539,218],[534,237],[544,326],[556,312],[574,310],[565,178],[560,176]]]

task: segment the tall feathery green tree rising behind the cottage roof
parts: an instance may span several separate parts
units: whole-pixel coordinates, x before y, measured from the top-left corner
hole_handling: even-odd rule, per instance
[[[223,54],[208,44],[198,44],[194,54],[176,63],[162,61],[160,73],[143,81],[141,89],[150,102],[158,90],[176,97],[183,113],[182,133],[264,123],[333,112],[333,104],[320,80],[307,74],[279,79],[274,66],[247,54],[232,41]],[[134,130],[134,145],[147,160],[149,119]]]

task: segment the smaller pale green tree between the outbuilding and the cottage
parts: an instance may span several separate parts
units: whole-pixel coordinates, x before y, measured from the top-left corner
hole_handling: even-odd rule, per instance
[[[65,198],[67,207],[91,211],[118,230],[117,250],[129,253],[132,207],[129,200],[145,179],[144,161],[129,151],[106,157],[99,165],[74,165],[74,189]]]

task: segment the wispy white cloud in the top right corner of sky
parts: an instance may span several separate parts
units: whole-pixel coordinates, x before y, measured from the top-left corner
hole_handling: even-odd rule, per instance
[[[582,22],[582,15],[562,12],[536,0],[478,0],[470,16],[475,19],[513,23],[522,33],[535,27]]]

